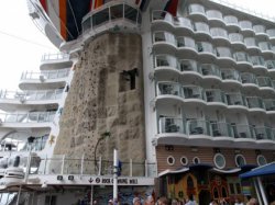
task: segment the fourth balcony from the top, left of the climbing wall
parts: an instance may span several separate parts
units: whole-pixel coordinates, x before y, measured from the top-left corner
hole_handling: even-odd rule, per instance
[[[56,112],[1,113],[1,127],[51,127]]]

